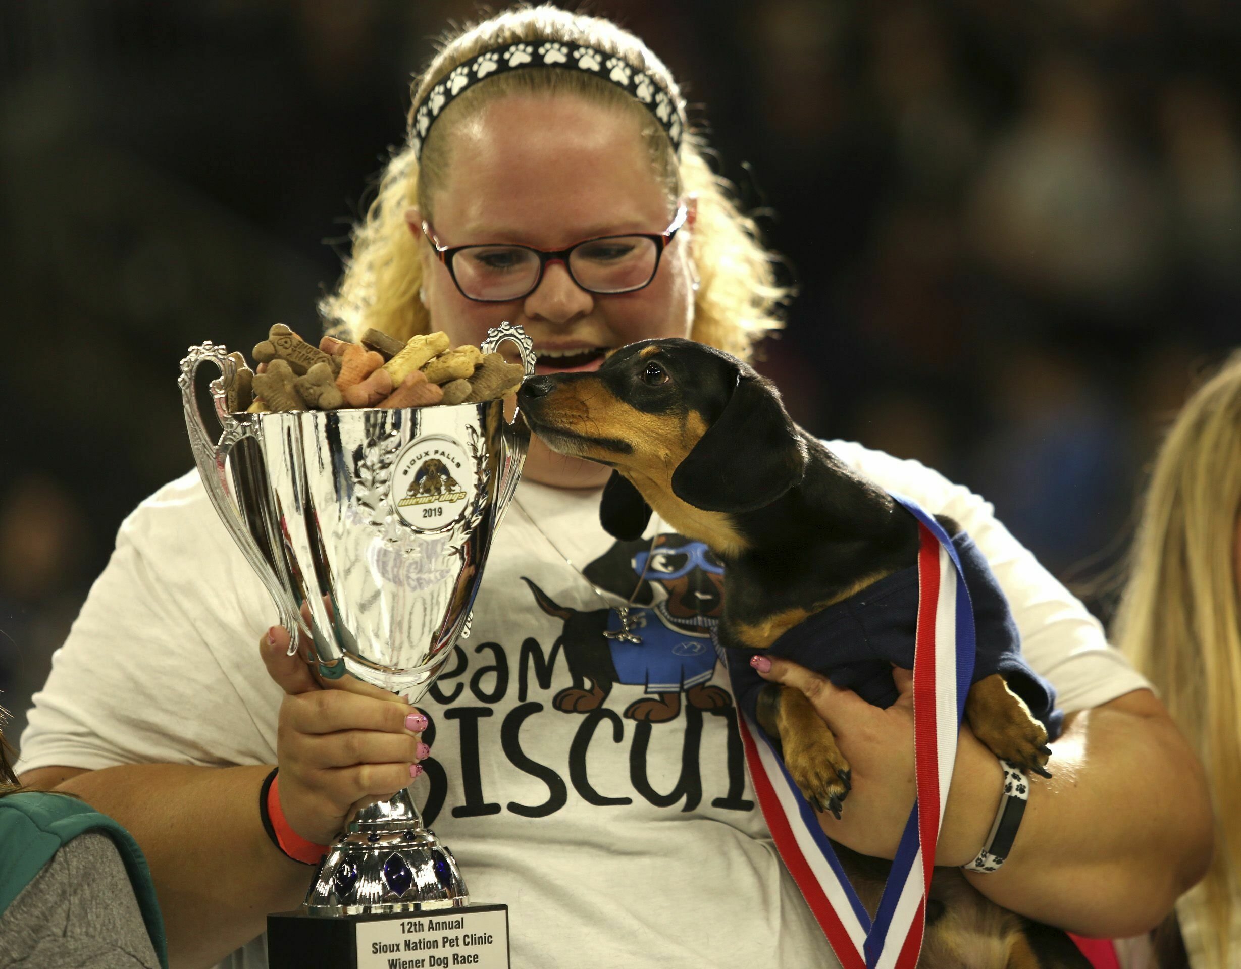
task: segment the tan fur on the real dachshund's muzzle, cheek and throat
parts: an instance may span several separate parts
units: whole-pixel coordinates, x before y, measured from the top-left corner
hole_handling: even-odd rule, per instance
[[[645,356],[658,352],[658,346],[642,350]],[[561,454],[607,462],[629,479],[656,515],[688,538],[706,542],[716,555],[736,555],[747,547],[728,515],[694,507],[673,494],[673,473],[706,433],[706,422],[696,411],[684,416],[648,413],[618,400],[603,381],[581,380],[547,395],[539,422],[553,431],[623,440],[632,448],[628,454],[575,438],[547,444]]]

